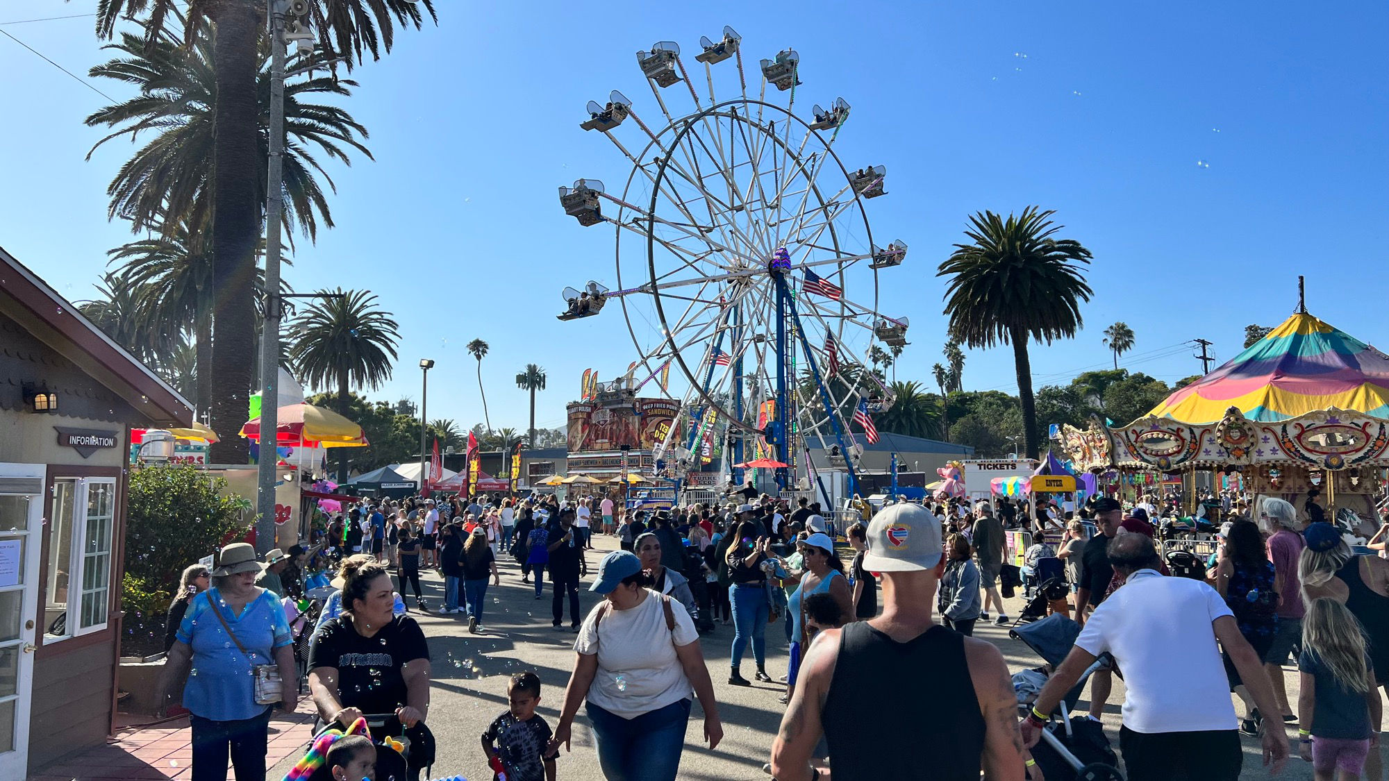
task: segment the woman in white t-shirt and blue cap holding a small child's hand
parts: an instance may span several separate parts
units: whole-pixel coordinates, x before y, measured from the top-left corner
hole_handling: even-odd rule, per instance
[[[649,585],[633,553],[603,557],[589,591],[604,599],[579,627],[578,659],[554,730],[554,739],[568,749],[574,717],[586,699],[606,778],[675,781],[692,695],[704,709],[708,748],[724,738],[694,621],[679,602]]]

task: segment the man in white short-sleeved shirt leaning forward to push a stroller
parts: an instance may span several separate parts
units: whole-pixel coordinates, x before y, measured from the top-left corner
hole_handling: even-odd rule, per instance
[[[1120,731],[1128,780],[1235,781],[1243,753],[1217,641],[1260,712],[1279,713],[1258,655],[1215,589],[1157,571],[1157,549],[1147,535],[1115,536],[1107,553],[1126,579],[1095,609],[1075,648],[1042,687],[1022,721],[1024,741],[1036,745],[1046,717],[1108,652],[1128,688]],[[1288,737],[1278,720],[1264,721],[1263,730],[1264,764],[1271,762],[1276,773],[1288,759]]]

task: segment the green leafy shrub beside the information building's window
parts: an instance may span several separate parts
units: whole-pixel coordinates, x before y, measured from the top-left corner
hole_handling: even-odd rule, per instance
[[[126,593],[131,579],[139,586],[132,596],[164,593],[178,588],[183,567],[215,553],[228,536],[242,536],[239,496],[218,493],[226,481],[188,466],[143,467],[131,471],[125,534]],[[126,603],[129,610],[129,603]]]

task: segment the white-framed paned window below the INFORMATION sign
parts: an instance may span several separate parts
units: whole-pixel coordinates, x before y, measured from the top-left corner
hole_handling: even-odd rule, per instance
[[[43,642],[106,628],[115,478],[57,478],[49,520]]]

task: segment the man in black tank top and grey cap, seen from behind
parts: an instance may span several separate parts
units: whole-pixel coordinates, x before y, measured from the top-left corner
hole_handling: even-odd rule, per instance
[[[1017,695],[999,649],[932,620],[945,570],[940,523],[892,504],[868,524],[864,568],[882,574],[882,616],[811,643],[772,743],[772,775],[818,777],[824,734],[835,781],[1021,780]]]

